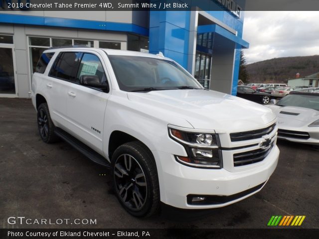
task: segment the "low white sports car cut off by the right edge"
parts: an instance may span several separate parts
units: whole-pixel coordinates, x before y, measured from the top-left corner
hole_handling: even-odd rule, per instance
[[[278,138],[319,145],[319,93],[292,91],[276,105]]]

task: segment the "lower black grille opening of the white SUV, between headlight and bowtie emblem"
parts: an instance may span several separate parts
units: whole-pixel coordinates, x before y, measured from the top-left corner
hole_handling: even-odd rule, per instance
[[[270,153],[270,150],[273,148],[273,146],[274,142],[272,142],[269,147],[265,149],[259,148],[242,153],[235,153],[233,155],[234,167],[263,161]]]

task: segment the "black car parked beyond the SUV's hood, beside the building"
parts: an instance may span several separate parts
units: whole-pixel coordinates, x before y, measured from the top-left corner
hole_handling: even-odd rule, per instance
[[[237,96],[246,100],[258,102],[267,105],[272,99],[271,95],[267,93],[257,92],[248,86],[238,86]]]

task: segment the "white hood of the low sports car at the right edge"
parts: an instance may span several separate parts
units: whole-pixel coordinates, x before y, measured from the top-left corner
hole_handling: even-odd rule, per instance
[[[279,127],[303,127],[319,119],[319,111],[308,108],[276,105],[267,107],[277,115]]]

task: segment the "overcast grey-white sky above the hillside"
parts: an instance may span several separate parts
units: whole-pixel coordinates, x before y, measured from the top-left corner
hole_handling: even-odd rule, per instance
[[[319,55],[319,11],[246,11],[243,39],[247,64]]]

